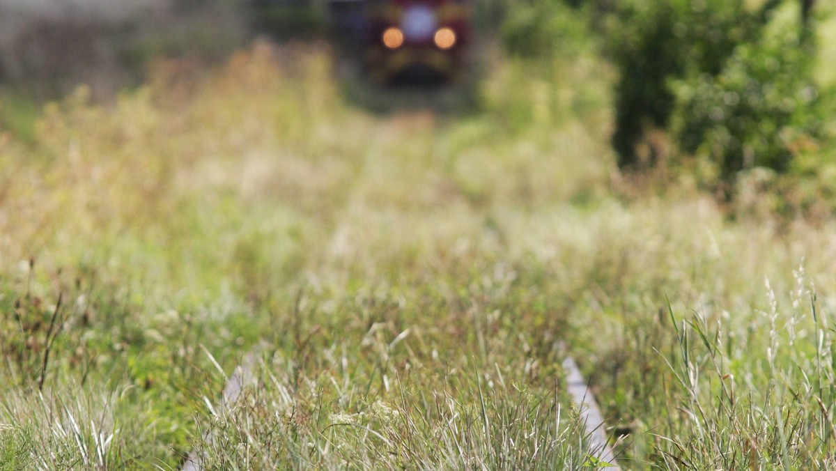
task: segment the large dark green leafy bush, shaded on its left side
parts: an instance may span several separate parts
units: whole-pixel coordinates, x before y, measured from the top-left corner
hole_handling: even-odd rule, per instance
[[[786,172],[820,131],[813,84],[813,2],[801,21],[793,2],[634,0],[621,5],[610,53],[619,70],[613,146],[619,167],[642,161],[651,130],[669,132],[686,155],[711,158],[722,180],[750,166]],[[795,17],[793,17],[795,18]]]

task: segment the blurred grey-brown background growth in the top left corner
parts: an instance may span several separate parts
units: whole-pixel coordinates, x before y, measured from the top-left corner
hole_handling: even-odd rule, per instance
[[[0,85],[52,100],[85,84],[104,99],[142,83],[156,59],[225,59],[246,44],[247,21],[227,0],[8,0]]]

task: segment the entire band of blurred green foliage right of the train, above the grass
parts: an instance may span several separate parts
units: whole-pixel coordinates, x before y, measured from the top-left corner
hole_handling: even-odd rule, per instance
[[[585,44],[614,66],[612,146],[625,177],[680,167],[728,201],[761,169],[767,193],[817,188],[785,199],[831,192],[833,3],[529,0],[505,11],[509,54]]]

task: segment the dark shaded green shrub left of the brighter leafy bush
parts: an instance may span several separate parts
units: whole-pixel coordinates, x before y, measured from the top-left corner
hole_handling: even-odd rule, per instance
[[[670,80],[719,74],[738,44],[757,37],[778,2],[759,10],[745,3],[634,0],[619,6],[609,54],[619,70],[613,146],[620,167],[641,163],[635,148],[645,132],[668,128],[676,102]]]

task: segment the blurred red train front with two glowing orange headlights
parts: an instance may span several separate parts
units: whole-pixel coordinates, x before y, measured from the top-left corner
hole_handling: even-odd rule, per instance
[[[365,62],[372,79],[455,79],[465,67],[470,8],[453,0],[387,0],[370,6]]]

